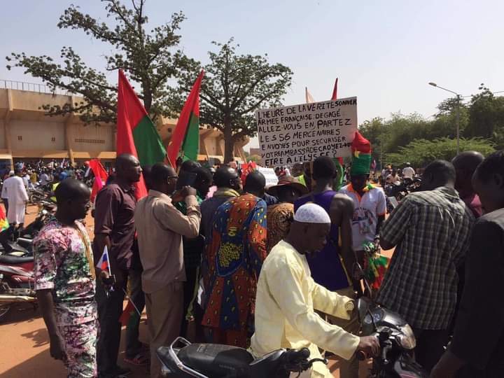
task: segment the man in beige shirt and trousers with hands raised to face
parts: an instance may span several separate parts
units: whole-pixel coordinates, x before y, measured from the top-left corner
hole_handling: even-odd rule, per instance
[[[184,187],[174,193],[177,181],[172,167],[156,164],[151,172],[152,189],[137,204],[134,214],[139,252],[144,272],[148,330],[151,334],[151,377],[161,377],[155,355],[159,346],[171,344],[179,336],[183,311],[182,236],[197,237],[201,213],[196,190]],[[169,194],[174,193],[172,197]],[[187,215],[172,202],[185,200]]]

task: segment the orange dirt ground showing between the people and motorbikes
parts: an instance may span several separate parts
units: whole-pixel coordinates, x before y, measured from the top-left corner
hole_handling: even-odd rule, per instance
[[[29,207],[27,223],[34,219],[36,207]],[[87,230],[92,235],[92,218],[86,219]],[[389,253],[387,253],[389,254]],[[148,343],[146,314],[144,312],[140,324],[140,339]],[[119,365],[124,358],[125,328],[121,338]],[[49,354],[48,332],[45,329],[40,311],[31,304],[18,304],[10,309],[6,318],[0,323],[0,377],[1,378],[54,378],[65,377],[65,369],[60,361],[53,360]],[[339,363],[330,360],[329,367],[334,377],[339,377]],[[360,377],[366,377],[367,366],[361,364]],[[132,367],[132,378],[148,377],[146,367]]]

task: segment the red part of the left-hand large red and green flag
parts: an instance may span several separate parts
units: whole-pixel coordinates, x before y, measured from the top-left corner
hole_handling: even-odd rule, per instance
[[[141,105],[141,104],[140,104]],[[144,118],[144,106],[139,106],[139,99],[123,73],[119,70],[118,115],[117,115],[117,155],[130,153],[138,158],[133,139],[133,128]],[[144,176],[135,183],[137,200],[147,195]]]

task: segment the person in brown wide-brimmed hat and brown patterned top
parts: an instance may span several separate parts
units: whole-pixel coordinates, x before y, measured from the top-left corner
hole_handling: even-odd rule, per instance
[[[287,236],[290,223],[294,218],[294,201],[307,194],[308,188],[293,176],[282,176],[279,182],[267,191],[269,195],[279,200],[279,203],[267,207],[266,251],[269,253],[281,239]]]

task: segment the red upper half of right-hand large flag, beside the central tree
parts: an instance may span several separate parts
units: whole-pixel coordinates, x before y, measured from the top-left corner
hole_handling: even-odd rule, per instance
[[[193,89],[189,93],[189,97],[184,104],[182,111],[177,121],[177,125],[172,134],[172,140],[169,142],[167,148],[168,160],[172,167],[176,167],[176,159],[179,155],[182,142],[186,139],[188,127],[190,126],[191,116],[195,119],[200,118],[200,87],[203,79],[204,71],[198,75]]]

